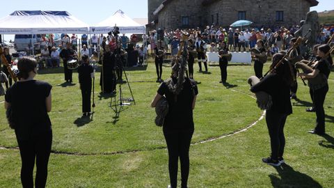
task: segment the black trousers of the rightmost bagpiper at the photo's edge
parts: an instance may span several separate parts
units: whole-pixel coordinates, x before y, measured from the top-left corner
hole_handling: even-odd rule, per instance
[[[315,105],[315,113],[317,115],[317,123],[315,132],[325,133],[325,110],[324,102],[328,92],[328,85],[313,91],[313,104]]]

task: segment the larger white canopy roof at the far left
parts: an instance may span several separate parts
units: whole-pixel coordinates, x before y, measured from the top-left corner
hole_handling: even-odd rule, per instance
[[[15,11],[0,19],[0,34],[88,33],[88,24],[66,11]]]

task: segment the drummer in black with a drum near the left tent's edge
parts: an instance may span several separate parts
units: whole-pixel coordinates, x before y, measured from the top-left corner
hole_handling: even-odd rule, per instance
[[[66,48],[62,49],[61,54],[59,55],[61,56],[61,58],[63,58],[65,81],[72,82],[72,70],[67,68],[67,61],[72,60],[76,53],[72,49],[72,45],[70,42],[66,43]]]

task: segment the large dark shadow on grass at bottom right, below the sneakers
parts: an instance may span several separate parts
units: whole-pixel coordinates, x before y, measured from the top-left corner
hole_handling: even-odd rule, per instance
[[[305,173],[295,171],[288,164],[282,164],[281,166],[275,167],[275,169],[279,177],[273,174],[269,175],[273,187],[322,187],[319,182],[313,180],[312,177]]]

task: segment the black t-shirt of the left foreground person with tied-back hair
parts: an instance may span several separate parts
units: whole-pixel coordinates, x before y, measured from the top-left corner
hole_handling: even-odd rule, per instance
[[[5,100],[11,105],[18,139],[51,131],[45,102],[51,88],[47,82],[30,80],[17,81],[8,89]]]

